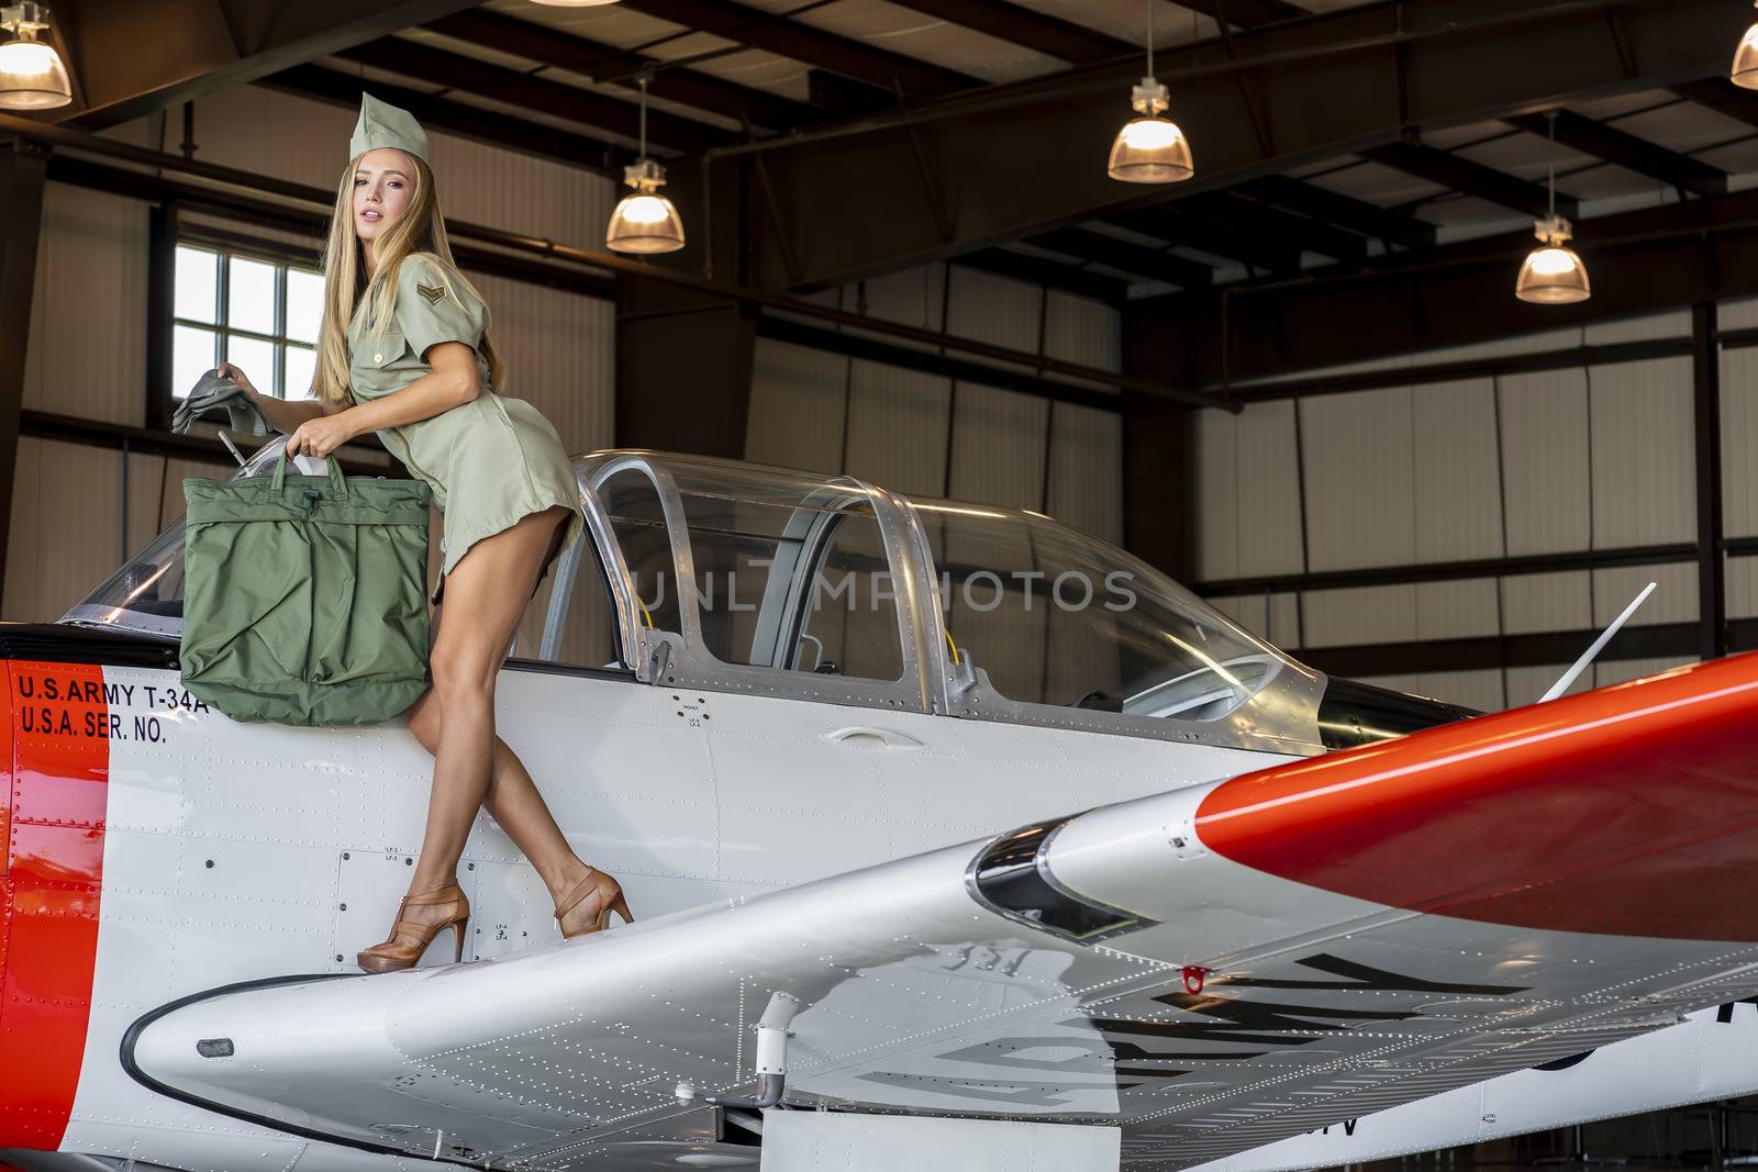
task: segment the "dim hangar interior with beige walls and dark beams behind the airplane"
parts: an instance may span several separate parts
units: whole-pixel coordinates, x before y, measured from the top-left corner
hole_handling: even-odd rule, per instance
[[[369,88],[432,132],[510,392],[570,450],[1048,511],[1318,668],[1484,710],[1535,699],[1649,580],[1580,687],[1758,643],[1758,98],[1707,67],[1733,5],[425,9],[216,44],[186,0],[156,11],[195,30],[172,47],[58,7],[83,93],[39,125],[81,137],[0,128],[28,322],[0,371],[7,619],[58,617],[225,466],[165,434],[195,374],[302,394]],[[1101,167],[1150,19],[1188,183]],[[1545,51],[1482,69],[1508,39]],[[598,250],[643,81],[689,248],[545,253]],[[1595,290],[1526,306],[1552,169]]]

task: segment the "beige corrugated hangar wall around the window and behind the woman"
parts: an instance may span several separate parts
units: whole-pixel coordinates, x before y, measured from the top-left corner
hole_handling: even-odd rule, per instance
[[[195,105],[197,158],[332,188],[346,165],[350,111],[239,86]],[[162,146],[160,121],[109,132]],[[172,146],[181,127],[172,119]],[[592,242],[614,184],[571,167],[432,135],[448,216]],[[250,232],[250,228],[239,228]],[[610,302],[471,274],[492,307],[508,392],[548,416],[571,452],[612,443]],[[32,306],[25,408],[86,420],[146,420],[148,206],[49,184]],[[213,467],[25,438],[14,473],[5,619],[49,620],[183,511],[183,476]],[[160,483],[163,510],[160,510]],[[123,513],[128,534],[123,539]],[[155,517],[162,513],[162,517]]]

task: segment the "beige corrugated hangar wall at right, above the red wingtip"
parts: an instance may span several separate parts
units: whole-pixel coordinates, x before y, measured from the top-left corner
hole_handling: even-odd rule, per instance
[[[1728,306],[1723,329],[1758,309]],[[1758,322],[1754,322],[1758,323]],[[1348,373],[1688,337],[1689,316],[1361,364]],[[1723,355],[1726,534],[1758,534],[1758,351]],[[1197,423],[1197,566],[1204,580],[1480,561],[1696,534],[1691,360],[1656,358],[1278,401]],[[1758,559],[1730,562],[1728,613],[1758,613]],[[1631,620],[1696,620],[1696,566],[1507,575],[1218,597],[1290,648],[1584,631],[1647,582]],[[1579,687],[1688,661],[1596,664]],[[1477,708],[1531,703],[1566,664],[1377,680]]]

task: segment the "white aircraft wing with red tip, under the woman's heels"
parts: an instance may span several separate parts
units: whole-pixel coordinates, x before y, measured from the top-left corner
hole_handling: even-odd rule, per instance
[[[774,894],[207,993],[123,1060],[302,1135],[571,1168],[712,1140],[700,1096],[749,1091],[789,995],[788,1105],[1109,1123],[1171,1168],[1758,993],[1754,655],[1088,812],[1079,782]]]

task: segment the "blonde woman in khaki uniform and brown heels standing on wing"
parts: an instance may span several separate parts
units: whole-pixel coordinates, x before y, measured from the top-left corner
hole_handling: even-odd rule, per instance
[[[452,264],[415,118],[364,95],[350,155],[323,251],[315,399],[264,395],[232,364],[220,374],[288,432],[292,455],[327,457],[376,430],[445,513],[432,685],[410,708],[410,729],[434,754],[427,831],[390,938],[359,954],[360,968],[390,972],[447,928],[462,956],[469,903],[457,863],[482,807],[543,877],[564,937],[601,930],[612,910],[631,917],[617,880],[570,849],[494,734],[494,680],[526,601],[584,529],[573,469],[536,408],[496,394],[506,373],[487,307]]]

